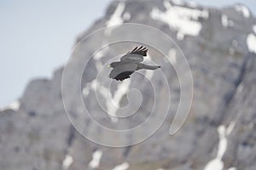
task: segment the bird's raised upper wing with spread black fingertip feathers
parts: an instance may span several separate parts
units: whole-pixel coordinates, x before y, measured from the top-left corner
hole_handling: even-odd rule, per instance
[[[132,63],[139,63],[143,61],[143,57],[147,56],[148,49],[141,46],[140,48],[136,47],[131,52],[129,51],[123,57],[121,57],[121,61],[128,61]]]

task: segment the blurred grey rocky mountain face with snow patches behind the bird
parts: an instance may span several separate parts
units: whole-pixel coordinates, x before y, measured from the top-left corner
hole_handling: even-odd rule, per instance
[[[140,26],[135,26],[138,30],[132,30],[131,25],[115,26],[122,23],[152,26],[176,43],[166,44],[154,33],[141,31]],[[255,169],[254,25],[255,18],[240,4],[213,9],[177,1],[114,1],[106,16],[79,36],[65,69],[55,71],[51,80],[30,82],[17,111],[1,111],[0,169]],[[90,37],[104,26],[110,27]],[[161,70],[139,71],[148,79],[134,74],[124,82],[112,82],[108,88],[111,80],[105,66],[118,59],[115,56],[140,45],[115,41],[134,37],[148,42],[143,45],[148,48],[151,62],[161,65]],[[185,69],[183,54],[177,47],[188,59],[194,96],[188,119],[170,135],[182,94],[176,66]],[[187,72],[182,75],[186,77]],[[191,84],[183,82],[182,86]],[[136,90],[129,92],[132,88],[140,90],[141,96]],[[116,109],[109,99],[123,108]],[[96,122],[117,130],[137,127],[148,117],[153,119],[135,133],[119,135],[96,126],[84,114],[84,106]],[[104,111],[128,117],[117,119]],[[136,114],[130,116],[131,112]],[[160,128],[158,120],[164,120]],[[151,135],[154,129],[157,131]],[[100,144],[126,146],[105,147],[83,135]],[[148,136],[145,141],[129,145]]]

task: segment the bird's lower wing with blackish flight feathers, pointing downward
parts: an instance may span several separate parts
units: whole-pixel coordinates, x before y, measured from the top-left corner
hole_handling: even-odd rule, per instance
[[[123,81],[127,78],[130,78],[131,74],[136,70],[137,64],[120,62],[120,65],[114,67],[113,70],[110,72],[109,77]]]

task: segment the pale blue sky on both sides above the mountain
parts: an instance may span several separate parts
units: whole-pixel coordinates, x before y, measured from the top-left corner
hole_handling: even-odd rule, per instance
[[[0,108],[22,96],[34,78],[64,65],[78,35],[101,18],[110,0],[0,1]],[[255,0],[194,0],[211,7]],[[254,14],[255,15],[255,14]]]

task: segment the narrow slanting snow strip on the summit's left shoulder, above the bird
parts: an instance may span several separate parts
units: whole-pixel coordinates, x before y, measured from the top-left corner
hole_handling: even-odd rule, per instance
[[[122,18],[122,14],[125,10],[125,3],[124,2],[120,2],[117,6],[117,8],[115,9],[115,11],[113,12],[112,16],[110,17],[110,19],[107,21],[107,27],[108,29],[106,30],[106,34],[109,36],[111,34],[111,32],[113,31],[113,29],[116,26],[119,26],[121,24],[124,23],[124,19]],[[111,26],[111,27],[109,27]]]

